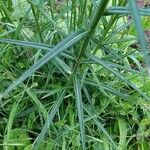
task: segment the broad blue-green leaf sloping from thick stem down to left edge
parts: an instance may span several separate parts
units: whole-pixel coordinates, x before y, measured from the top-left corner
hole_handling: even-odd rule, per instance
[[[54,58],[64,50],[70,48],[72,45],[77,43],[83,37],[86,36],[86,32],[83,30],[76,31],[71,34],[69,37],[65,38],[59,44],[57,44],[53,49],[51,49],[47,54],[45,54],[38,62],[36,62],[33,66],[31,66],[27,71],[23,73],[17,80],[15,80],[2,94],[1,98],[15,89],[21,82],[23,82],[26,78],[31,76],[37,69],[46,64],[50,59]]]

